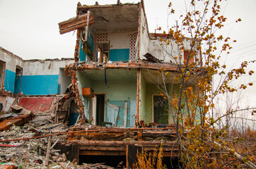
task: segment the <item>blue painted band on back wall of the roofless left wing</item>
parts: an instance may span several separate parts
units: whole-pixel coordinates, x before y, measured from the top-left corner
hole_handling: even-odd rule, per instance
[[[58,79],[59,75],[23,75],[21,92],[28,95],[57,94]]]

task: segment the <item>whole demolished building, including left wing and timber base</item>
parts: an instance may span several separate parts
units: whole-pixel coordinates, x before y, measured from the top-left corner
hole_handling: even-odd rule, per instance
[[[178,157],[172,110],[161,84],[174,95],[180,65],[199,66],[200,56],[187,59],[190,40],[183,39],[180,52],[172,35],[149,33],[144,1],[78,3],[76,17],[59,23],[60,34],[74,30],[74,59],[23,61],[1,49],[4,110],[18,97],[18,106],[37,114],[50,111],[52,123],[74,125],[56,146],[69,161],[124,161],[132,168],[137,151],[153,152],[161,144],[163,156]],[[160,38],[170,45],[163,47]],[[15,66],[8,67],[6,58],[15,59]],[[168,78],[159,76],[161,69]]]

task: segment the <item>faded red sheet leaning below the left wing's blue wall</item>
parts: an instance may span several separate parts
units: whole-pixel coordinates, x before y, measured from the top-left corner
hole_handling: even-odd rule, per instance
[[[18,106],[28,109],[32,113],[50,110],[54,96],[22,97]]]

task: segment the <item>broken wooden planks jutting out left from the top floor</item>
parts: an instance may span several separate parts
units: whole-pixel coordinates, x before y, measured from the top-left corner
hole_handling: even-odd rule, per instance
[[[94,19],[92,13],[89,15],[89,19],[86,13],[83,15],[78,15],[74,18],[70,18],[69,20],[65,20],[62,23],[59,23],[59,33],[62,35],[66,32],[70,32],[72,30],[85,27],[87,25],[87,19],[89,20],[89,25],[91,25],[92,23],[94,23]]]

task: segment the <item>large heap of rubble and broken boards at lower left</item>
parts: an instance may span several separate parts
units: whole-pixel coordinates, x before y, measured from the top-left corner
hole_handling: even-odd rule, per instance
[[[60,150],[55,150],[53,143],[50,144],[49,164],[45,165],[49,137],[44,136],[53,134],[52,142],[62,141],[67,134],[54,133],[68,130],[66,124],[50,123],[46,119],[30,120],[23,126],[12,125],[0,132],[0,168],[4,165],[9,168],[111,168],[103,163],[78,165],[76,161],[67,161],[66,155],[59,154]]]

